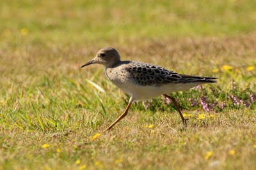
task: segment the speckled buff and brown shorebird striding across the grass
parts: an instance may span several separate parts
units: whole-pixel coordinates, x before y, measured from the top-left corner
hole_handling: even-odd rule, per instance
[[[144,62],[122,61],[119,53],[112,47],[100,49],[92,60],[81,67],[90,64],[102,64],[105,67],[105,74],[108,80],[130,96],[124,113],[113,124],[109,125],[105,131],[109,131],[127,115],[133,101],[145,101],[162,95],[172,100],[176,110],[179,112],[183,125],[186,127],[188,119],[183,117],[175,98],[168,94],[188,90],[204,83],[216,83],[218,79],[207,76],[179,74],[164,67]]]

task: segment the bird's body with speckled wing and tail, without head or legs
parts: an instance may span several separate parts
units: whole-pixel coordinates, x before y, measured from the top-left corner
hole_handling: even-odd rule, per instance
[[[215,78],[178,74],[143,62],[120,61],[105,67],[106,76],[135,101],[152,99],[161,94],[188,90]]]

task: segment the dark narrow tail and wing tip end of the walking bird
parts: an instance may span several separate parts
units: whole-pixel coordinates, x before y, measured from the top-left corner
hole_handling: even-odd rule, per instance
[[[192,82],[202,82],[202,83],[216,83],[218,78],[215,77],[203,77],[203,76],[189,76],[186,74],[179,74],[182,76],[179,82],[192,83]]]

